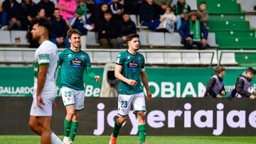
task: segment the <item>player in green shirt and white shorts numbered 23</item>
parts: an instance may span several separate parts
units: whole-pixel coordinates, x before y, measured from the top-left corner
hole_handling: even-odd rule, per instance
[[[120,80],[118,96],[119,118],[114,122],[110,144],[116,143],[119,129],[122,127],[122,124],[127,121],[129,110],[132,105],[134,107],[134,114],[137,114],[137,118],[139,119],[139,143],[145,143],[146,139],[144,114],[146,111],[146,104],[141,78],[146,89],[147,100],[151,99],[151,92],[149,90],[148,78],[144,68],[144,56],[137,52],[139,50],[139,35],[128,35],[125,43],[128,46],[128,50],[119,53],[114,70],[115,77]]]

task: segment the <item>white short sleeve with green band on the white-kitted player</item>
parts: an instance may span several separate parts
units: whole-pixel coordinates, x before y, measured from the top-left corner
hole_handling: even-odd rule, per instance
[[[49,65],[50,63],[50,48],[42,48],[38,51],[38,64]]]

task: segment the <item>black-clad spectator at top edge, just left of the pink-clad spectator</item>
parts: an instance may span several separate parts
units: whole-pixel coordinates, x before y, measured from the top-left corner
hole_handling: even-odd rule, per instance
[[[46,17],[50,18],[51,16],[53,16],[53,11],[55,9],[55,5],[50,0],[41,0],[38,3],[38,9],[45,9]]]

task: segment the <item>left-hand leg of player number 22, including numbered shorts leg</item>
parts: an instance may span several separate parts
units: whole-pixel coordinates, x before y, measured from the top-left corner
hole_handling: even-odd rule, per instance
[[[61,88],[61,96],[63,104],[66,109],[66,116],[64,120],[64,138],[63,142],[68,143],[70,137],[70,129],[72,125],[72,118],[75,115],[75,98],[73,89],[68,87]]]

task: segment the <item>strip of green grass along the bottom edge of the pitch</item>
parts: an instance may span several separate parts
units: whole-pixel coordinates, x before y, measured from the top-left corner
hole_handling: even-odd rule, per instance
[[[60,137],[63,138],[63,137]],[[109,136],[88,136],[78,135],[75,137],[75,144],[102,144],[108,143]],[[137,144],[139,136],[119,136],[117,144]],[[39,143],[40,137],[36,135],[0,135],[1,144],[34,144]],[[240,143],[256,143],[255,137],[239,137],[239,136],[147,136],[146,142],[149,144],[240,144]]]

